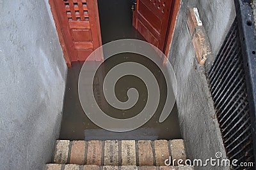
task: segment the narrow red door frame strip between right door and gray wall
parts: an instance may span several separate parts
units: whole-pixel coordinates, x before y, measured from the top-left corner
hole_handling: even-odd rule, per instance
[[[163,51],[164,55],[167,58],[168,58],[168,55],[170,52],[170,46],[172,45],[172,38],[173,38],[174,29],[175,29],[175,25],[176,25],[176,21],[177,21],[177,16],[178,16],[179,9],[180,9],[180,1],[181,0],[174,0],[172,13],[170,13],[168,32],[166,34],[164,51]],[[163,63],[165,64],[166,60],[164,60]]]

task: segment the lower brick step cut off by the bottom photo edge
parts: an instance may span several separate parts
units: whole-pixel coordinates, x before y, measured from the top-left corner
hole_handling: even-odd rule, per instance
[[[77,164],[46,164],[44,170],[194,170],[193,166],[95,166]]]

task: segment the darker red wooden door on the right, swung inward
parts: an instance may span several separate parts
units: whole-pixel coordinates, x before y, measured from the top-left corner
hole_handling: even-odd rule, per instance
[[[174,0],[136,0],[132,25],[152,45],[164,52]]]

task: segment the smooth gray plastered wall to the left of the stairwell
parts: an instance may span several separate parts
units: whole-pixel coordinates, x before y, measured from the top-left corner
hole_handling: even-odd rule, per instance
[[[47,0],[0,0],[0,169],[42,169],[59,134],[67,66]]]

